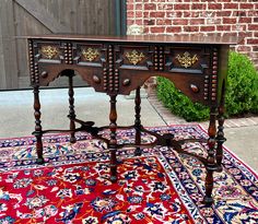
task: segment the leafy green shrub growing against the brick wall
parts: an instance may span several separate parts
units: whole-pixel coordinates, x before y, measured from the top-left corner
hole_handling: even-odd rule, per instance
[[[157,98],[173,114],[187,121],[209,118],[207,106],[192,103],[165,78],[157,78]],[[234,51],[230,52],[225,107],[226,116],[230,117],[258,114],[258,73],[246,56]]]

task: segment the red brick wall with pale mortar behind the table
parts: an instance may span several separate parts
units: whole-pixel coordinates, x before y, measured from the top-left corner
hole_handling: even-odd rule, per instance
[[[134,23],[146,34],[243,36],[234,48],[258,69],[258,0],[127,0],[127,24]]]

